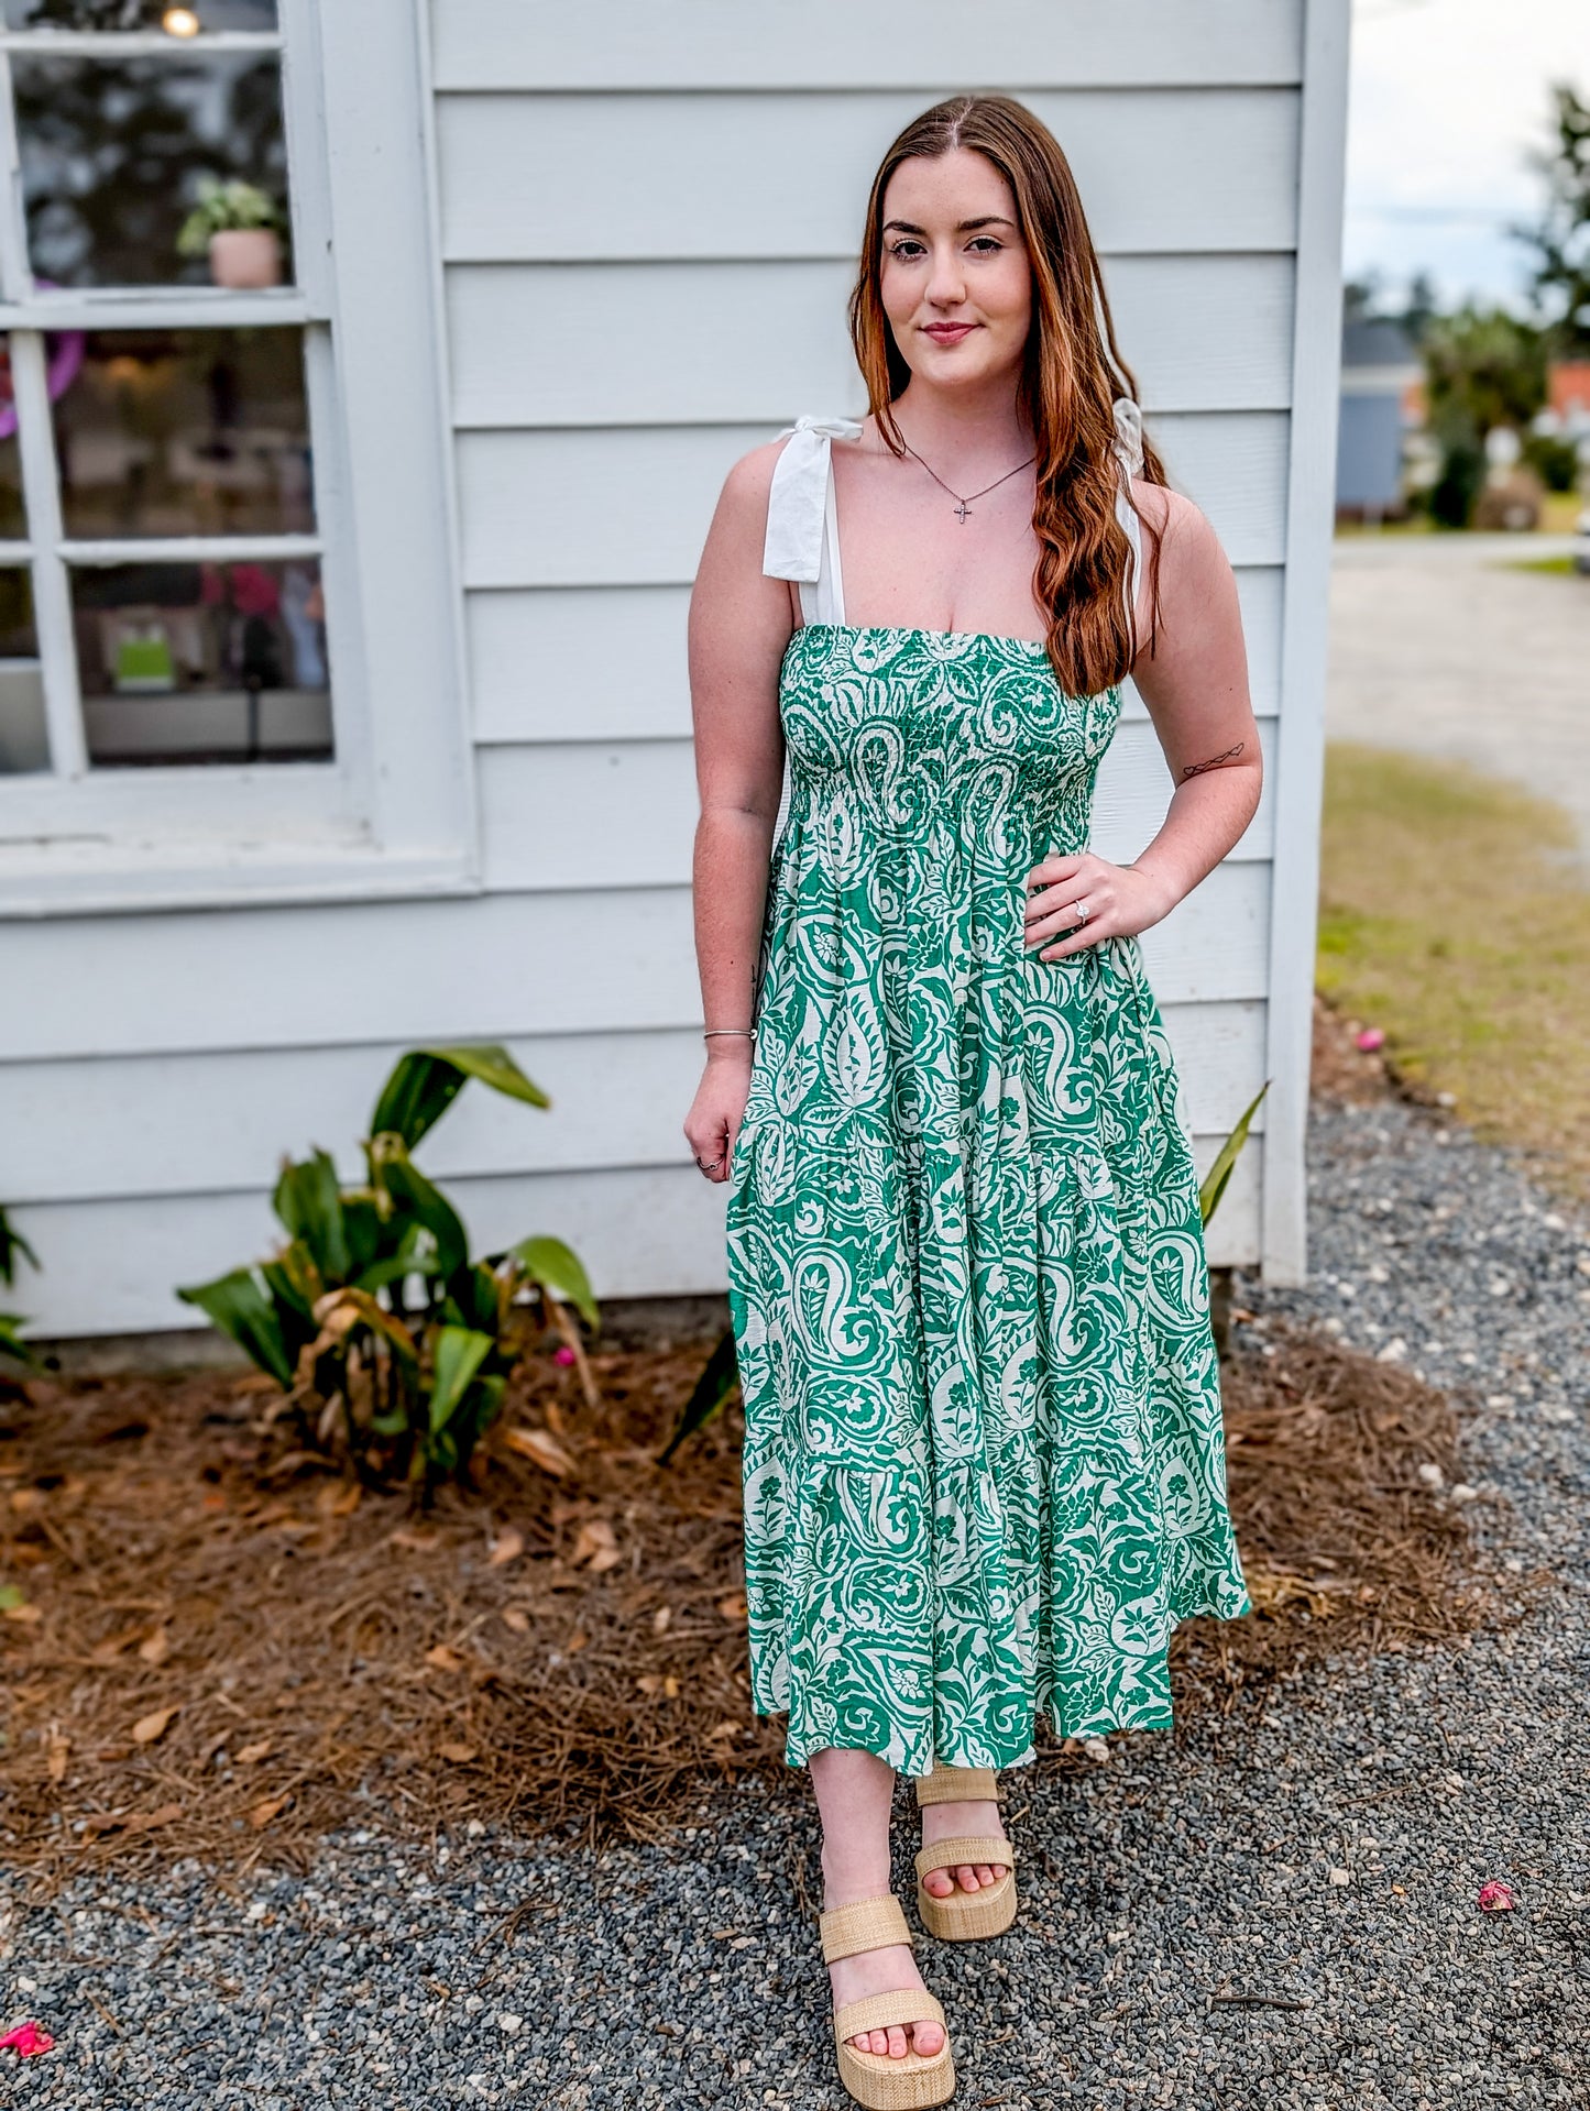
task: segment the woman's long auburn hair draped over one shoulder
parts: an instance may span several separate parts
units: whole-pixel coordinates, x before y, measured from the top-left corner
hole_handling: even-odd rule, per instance
[[[893,401],[910,367],[883,312],[883,194],[902,160],[935,160],[959,146],[982,154],[1009,184],[1033,264],[1033,325],[1016,399],[1037,454],[1033,591],[1049,612],[1045,650],[1060,688],[1092,697],[1123,680],[1138,654],[1136,581],[1132,608],[1125,591],[1132,545],[1115,513],[1121,471],[1113,452],[1115,399],[1136,401],[1138,384],[1115,342],[1104,274],[1071,163],[1049,127],[1022,103],[1009,95],[954,95],[912,118],[883,156],[849,302],[851,344],[878,431],[893,454],[904,454]],[[1142,475],[1149,483],[1166,483],[1163,462],[1147,437]],[[1132,507],[1142,517],[1136,498]],[[1149,521],[1142,528],[1151,545],[1153,642],[1159,536]]]

